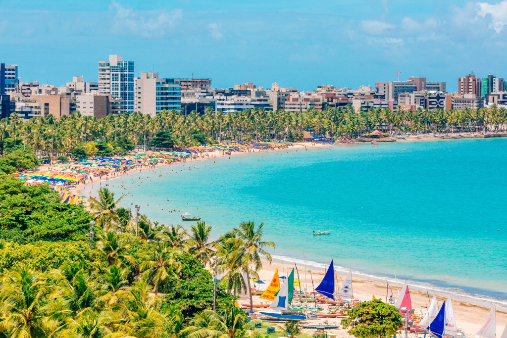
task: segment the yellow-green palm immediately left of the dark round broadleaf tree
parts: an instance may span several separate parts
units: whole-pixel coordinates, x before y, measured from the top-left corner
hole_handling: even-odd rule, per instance
[[[143,278],[153,285],[155,295],[168,278],[176,278],[181,270],[182,266],[175,257],[177,252],[164,241],[155,242],[150,250],[144,252],[146,260],[141,263],[140,271],[143,271]]]

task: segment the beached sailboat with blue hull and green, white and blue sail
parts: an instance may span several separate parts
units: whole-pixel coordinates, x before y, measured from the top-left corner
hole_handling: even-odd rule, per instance
[[[294,269],[280,287],[273,303],[269,306],[272,311],[259,311],[261,315],[276,320],[305,320],[306,316],[300,312],[287,311],[288,305],[292,303],[294,295]]]

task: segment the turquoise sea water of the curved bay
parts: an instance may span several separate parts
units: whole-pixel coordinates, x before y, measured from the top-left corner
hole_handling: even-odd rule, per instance
[[[162,208],[202,216],[213,236],[264,222],[277,256],[507,300],[506,149],[507,139],[293,149],[108,183],[165,224],[182,221]]]

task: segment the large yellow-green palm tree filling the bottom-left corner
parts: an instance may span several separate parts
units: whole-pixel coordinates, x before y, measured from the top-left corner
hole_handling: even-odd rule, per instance
[[[0,332],[12,338],[43,337],[65,318],[44,274],[22,266],[2,279],[0,289]]]

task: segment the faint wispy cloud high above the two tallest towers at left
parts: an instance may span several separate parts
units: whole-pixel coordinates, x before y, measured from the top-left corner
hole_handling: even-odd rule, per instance
[[[114,17],[111,20],[111,31],[117,34],[125,32],[144,37],[158,37],[174,28],[183,18],[183,10],[137,11],[123,7],[113,0],[110,10]]]

